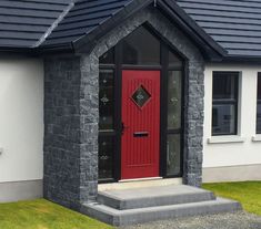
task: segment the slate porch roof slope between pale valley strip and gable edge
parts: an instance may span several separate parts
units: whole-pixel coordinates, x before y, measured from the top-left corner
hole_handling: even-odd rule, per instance
[[[78,0],[43,45],[74,42],[110,19],[132,0]]]

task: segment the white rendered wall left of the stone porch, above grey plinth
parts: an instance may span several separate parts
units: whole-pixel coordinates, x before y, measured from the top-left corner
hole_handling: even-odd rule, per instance
[[[0,58],[0,183],[42,179],[43,63]]]

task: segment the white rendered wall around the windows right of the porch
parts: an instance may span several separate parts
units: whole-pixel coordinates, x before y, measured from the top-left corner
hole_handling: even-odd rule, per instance
[[[211,137],[212,71],[241,72],[238,136]],[[261,65],[207,64],[203,143],[204,168],[261,165],[261,142],[252,140],[252,137],[255,136],[258,72],[261,72]]]

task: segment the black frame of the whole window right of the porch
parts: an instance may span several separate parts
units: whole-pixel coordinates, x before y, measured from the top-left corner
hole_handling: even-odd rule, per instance
[[[214,76],[215,74],[223,75],[234,75],[234,93],[233,97],[234,98],[214,98],[214,90],[213,90],[213,84],[214,84]],[[229,135],[238,135],[238,129],[239,129],[239,118],[238,118],[238,110],[239,110],[239,82],[240,82],[240,72],[235,71],[213,71],[212,72],[212,117],[211,117],[211,135],[212,136],[229,136]],[[234,106],[234,129],[233,132],[230,133],[214,133],[213,131],[213,107],[214,105],[233,105]]]

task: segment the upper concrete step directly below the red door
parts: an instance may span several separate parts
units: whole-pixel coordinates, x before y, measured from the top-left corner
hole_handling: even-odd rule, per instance
[[[214,200],[211,191],[185,185],[99,191],[99,204],[119,209],[147,208]]]

